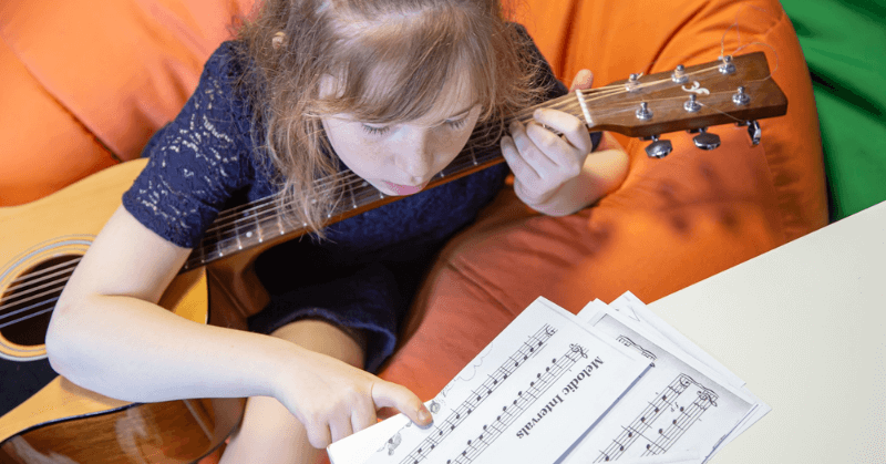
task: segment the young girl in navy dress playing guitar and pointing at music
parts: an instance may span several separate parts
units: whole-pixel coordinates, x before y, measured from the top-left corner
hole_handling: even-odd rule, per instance
[[[427,425],[419,398],[362,370],[392,352],[423,266],[507,166],[521,199],[565,215],[617,186],[627,157],[588,156],[581,122],[542,110],[486,148],[507,165],[424,187],[475,126],[501,128],[563,93],[496,0],[268,0],[145,148],[147,167],[59,301],[52,367],[128,401],[248,396],[224,463],[316,461],[383,406]],[[327,225],[348,172],[404,198]],[[156,306],[220,210],[277,193],[316,238],[258,259],[271,302],[250,331]]]

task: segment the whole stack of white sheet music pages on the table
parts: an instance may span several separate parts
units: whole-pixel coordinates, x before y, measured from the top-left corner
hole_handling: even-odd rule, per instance
[[[769,406],[639,299],[539,298],[427,408],[328,447],[333,464],[703,463]]]

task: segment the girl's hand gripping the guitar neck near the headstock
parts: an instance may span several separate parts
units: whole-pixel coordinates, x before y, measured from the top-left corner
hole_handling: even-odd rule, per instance
[[[590,71],[581,70],[571,90],[589,89],[591,82]],[[569,194],[566,190],[570,189],[563,187],[581,174],[593,145],[585,123],[578,117],[547,109],[537,110],[533,116],[535,121],[525,126],[518,122],[511,124],[511,136],[502,138],[502,153],[514,173],[517,196],[534,209],[552,214],[546,205],[562,203],[558,194]],[[571,212],[562,214],[568,213]]]

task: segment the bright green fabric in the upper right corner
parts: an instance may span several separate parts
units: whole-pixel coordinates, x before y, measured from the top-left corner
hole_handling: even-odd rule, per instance
[[[886,200],[886,0],[782,0],[812,73],[837,220]]]

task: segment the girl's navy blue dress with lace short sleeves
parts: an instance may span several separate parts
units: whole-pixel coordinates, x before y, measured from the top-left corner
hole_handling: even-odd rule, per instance
[[[148,165],[123,196],[135,218],[183,247],[197,246],[234,202],[275,193],[272,176],[255,156],[250,111],[234,96],[244,70],[235,47],[226,42],[208,60],[181,114],[146,146]],[[548,97],[564,94],[544,68]],[[475,219],[506,175],[499,164],[333,224],[326,240],[296,239],[266,251],[256,270],[271,302],[250,318],[250,330],[270,333],[303,318],[358,329],[367,334],[365,369],[377,371],[393,352],[425,267]]]

